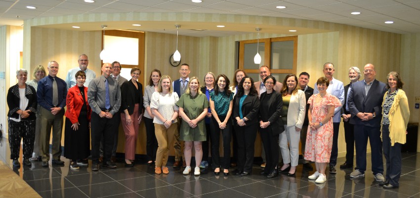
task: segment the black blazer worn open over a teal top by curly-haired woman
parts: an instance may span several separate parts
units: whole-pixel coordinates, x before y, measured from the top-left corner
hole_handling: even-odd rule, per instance
[[[245,124],[247,126],[258,123],[258,112],[259,112],[258,94],[255,94],[254,96],[248,95],[247,98],[245,98],[244,102],[242,103],[242,109],[239,109],[240,99],[241,98],[239,98],[238,95],[236,95],[233,98],[232,123],[234,125],[237,125],[235,118],[239,117],[239,111],[242,111],[242,115],[248,118],[248,120],[245,121]]]

